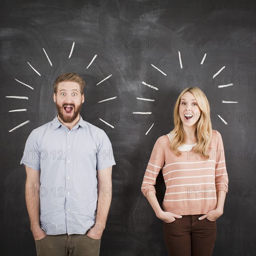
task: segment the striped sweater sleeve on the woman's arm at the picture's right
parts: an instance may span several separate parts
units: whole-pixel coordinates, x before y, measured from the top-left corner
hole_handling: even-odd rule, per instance
[[[215,165],[215,184],[216,184],[216,193],[219,190],[223,190],[228,193],[228,173],[226,169],[225,162],[225,152],[222,142],[222,136],[217,131],[217,146],[216,146],[216,165]]]

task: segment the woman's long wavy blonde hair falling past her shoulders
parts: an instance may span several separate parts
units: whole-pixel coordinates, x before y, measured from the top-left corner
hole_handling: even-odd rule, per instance
[[[197,144],[193,147],[195,154],[203,155],[206,159],[209,159],[207,151],[209,150],[209,144],[211,141],[212,125],[210,120],[210,106],[205,94],[197,87],[185,88],[179,95],[175,107],[174,107],[174,129],[171,131],[174,133],[174,137],[170,143],[170,149],[175,155],[180,156],[181,152],[178,150],[180,146],[186,143],[186,135],[182,127],[182,120],[180,117],[179,106],[183,94],[190,92],[195,96],[198,107],[201,109],[201,115],[197,121],[195,135],[197,138]]]

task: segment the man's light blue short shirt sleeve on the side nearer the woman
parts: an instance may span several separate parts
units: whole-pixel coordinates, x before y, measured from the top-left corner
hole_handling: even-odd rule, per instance
[[[99,146],[96,152],[96,169],[102,170],[115,165],[113,149],[108,135],[102,130],[99,138]]]

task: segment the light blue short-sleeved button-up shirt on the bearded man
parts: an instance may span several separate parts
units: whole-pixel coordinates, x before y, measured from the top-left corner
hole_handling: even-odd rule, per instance
[[[85,234],[94,226],[97,171],[115,165],[102,129],[80,115],[69,130],[56,115],[28,136],[20,164],[40,170],[40,225],[47,235]]]

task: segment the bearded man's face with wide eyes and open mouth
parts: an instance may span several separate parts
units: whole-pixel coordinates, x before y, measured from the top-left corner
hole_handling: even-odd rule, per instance
[[[81,95],[79,84],[76,82],[61,82],[58,84],[54,102],[58,115],[65,123],[71,123],[79,115],[84,94]]]

